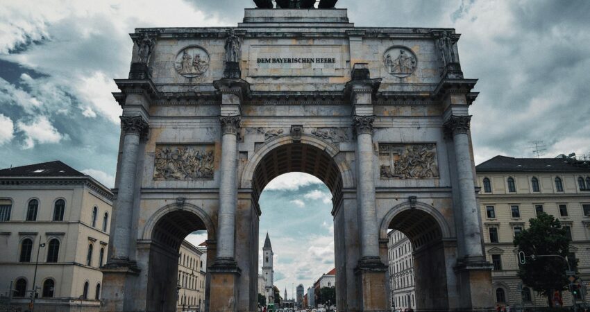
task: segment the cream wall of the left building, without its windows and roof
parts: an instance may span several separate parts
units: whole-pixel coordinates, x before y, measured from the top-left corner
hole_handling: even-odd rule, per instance
[[[51,179],[48,179],[51,180]],[[43,184],[2,185],[0,198],[12,201],[10,221],[0,223],[0,293],[8,294],[10,282],[15,289],[17,279],[27,281],[27,290],[32,289],[37,246],[39,264],[35,285],[40,288],[35,306],[43,311],[67,311],[81,308],[97,311],[100,306],[102,273],[99,267],[107,261],[111,198],[96,193],[79,184],[58,184],[46,181]],[[36,220],[27,221],[28,202],[38,200]],[[62,221],[53,221],[56,200],[65,200]],[[96,207],[96,223],[92,226],[92,211]],[[106,231],[103,231],[103,216],[108,214]],[[21,262],[20,253],[24,239],[33,240],[31,259]],[[49,242],[60,242],[58,261],[48,263]],[[88,263],[88,250],[92,245],[92,257]],[[101,249],[102,260],[101,260]],[[43,285],[48,279],[54,281],[53,295],[43,295]],[[85,299],[85,283],[88,284]],[[97,292],[98,288],[98,292]],[[13,304],[25,306],[28,298],[13,298]]]

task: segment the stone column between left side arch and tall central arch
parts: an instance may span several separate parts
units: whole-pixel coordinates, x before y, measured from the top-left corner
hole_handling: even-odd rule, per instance
[[[237,205],[237,128],[239,116],[221,120],[221,176],[219,178],[219,236],[217,259],[235,258],[235,209]]]

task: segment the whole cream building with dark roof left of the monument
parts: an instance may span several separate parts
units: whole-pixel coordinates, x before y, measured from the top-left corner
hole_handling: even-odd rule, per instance
[[[12,309],[27,310],[35,287],[36,311],[99,311],[111,214],[110,189],[62,162],[0,170],[0,289],[12,283]]]

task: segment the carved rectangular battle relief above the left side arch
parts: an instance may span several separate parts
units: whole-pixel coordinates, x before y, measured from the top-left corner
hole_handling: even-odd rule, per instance
[[[215,158],[213,144],[158,144],[155,146],[154,179],[212,179]]]

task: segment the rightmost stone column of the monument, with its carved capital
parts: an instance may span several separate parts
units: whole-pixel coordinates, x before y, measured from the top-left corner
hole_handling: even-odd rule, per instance
[[[451,115],[445,122],[446,130],[453,135],[457,180],[459,182],[460,207],[464,233],[464,257],[466,261],[484,260],[482,233],[475,199],[473,163],[469,145],[471,116]]]

